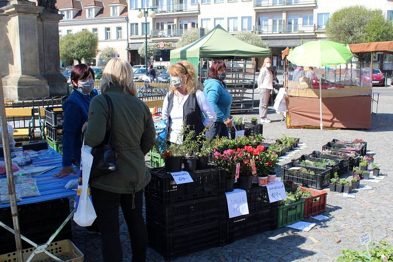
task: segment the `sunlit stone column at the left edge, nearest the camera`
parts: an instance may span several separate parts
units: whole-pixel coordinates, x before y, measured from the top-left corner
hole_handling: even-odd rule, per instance
[[[27,4],[1,8],[0,46],[5,48],[0,49],[0,72],[6,99],[49,96],[48,82],[39,70],[37,17],[42,9]]]

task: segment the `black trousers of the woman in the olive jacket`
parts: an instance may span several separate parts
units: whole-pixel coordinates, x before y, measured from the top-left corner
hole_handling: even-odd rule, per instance
[[[142,216],[143,190],[135,194],[135,209],[132,209],[132,195],[118,194],[98,188],[91,188],[98,228],[102,236],[102,257],[104,262],[122,262],[123,252],[119,237],[119,206],[130,233],[132,262],[146,261],[147,229]]]

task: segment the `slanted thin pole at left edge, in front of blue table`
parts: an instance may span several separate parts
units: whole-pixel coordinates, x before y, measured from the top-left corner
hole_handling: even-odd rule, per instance
[[[3,93],[1,76],[0,76],[0,115],[1,115],[1,123],[0,123],[1,136],[2,136],[2,143],[4,148],[4,162],[5,162],[5,170],[7,172],[8,194],[9,194],[9,200],[11,206],[12,222],[14,224],[14,230],[15,230],[16,254],[17,254],[18,261],[23,262],[21,230],[19,228],[18,208],[16,206],[14,174],[12,172],[12,163],[10,157],[11,152],[9,148],[7,121],[5,119],[4,93]]]

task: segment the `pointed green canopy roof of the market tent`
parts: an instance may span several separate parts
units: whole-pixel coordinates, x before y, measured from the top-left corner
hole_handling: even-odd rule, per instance
[[[269,56],[268,48],[247,44],[228,33],[220,25],[215,26],[197,41],[170,51],[170,59],[187,59],[189,57],[261,57]]]

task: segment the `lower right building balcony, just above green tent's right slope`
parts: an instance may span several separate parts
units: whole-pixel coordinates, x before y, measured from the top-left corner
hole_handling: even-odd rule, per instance
[[[278,25],[254,26],[254,32],[266,36],[275,35],[312,35],[315,34],[315,25]]]

